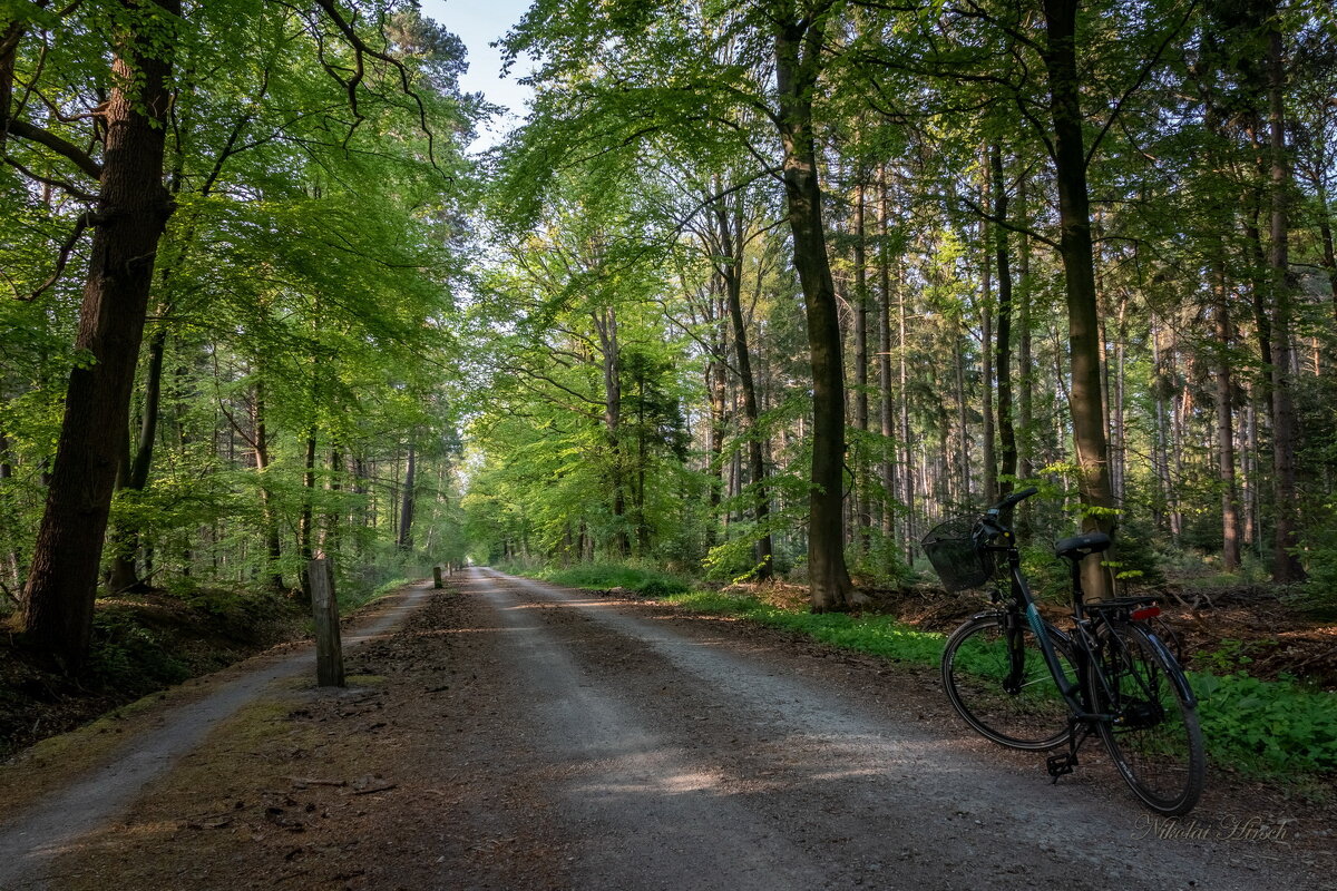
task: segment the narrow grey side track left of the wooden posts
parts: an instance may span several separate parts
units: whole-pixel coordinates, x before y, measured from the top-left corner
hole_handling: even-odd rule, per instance
[[[344,632],[345,649],[390,633],[427,596],[421,585],[398,596],[360,627]],[[139,791],[166,773],[219,721],[262,696],[274,681],[308,671],[316,649],[302,647],[278,661],[255,657],[259,668],[222,683],[203,699],[172,708],[151,732],[126,739],[107,760],[62,792],[0,818],[0,891],[43,888],[49,860],[128,808]]]

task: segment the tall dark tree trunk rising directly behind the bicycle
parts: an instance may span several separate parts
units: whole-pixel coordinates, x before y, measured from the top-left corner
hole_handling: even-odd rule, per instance
[[[1110,490],[1106,418],[1100,398],[1099,307],[1091,246],[1091,203],[1087,195],[1087,159],[1082,136],[1080,83],[1076,52],[1078,0],[1044,0],[1047,43],[1044,67],[1050,80],[1054,120],[1054,168],[1059,192],[1059,254],[1068,302],[1068,351],[1072,441],[1078,458],[1078,488],[1087,532],[1112,533],[1114,493]],[[1114,593],[1100,554],[1087,557],[1082,580],[1087,597]]]

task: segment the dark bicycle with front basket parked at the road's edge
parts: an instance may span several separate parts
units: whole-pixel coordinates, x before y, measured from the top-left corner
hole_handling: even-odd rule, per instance
[[[1197,699],[1178,660],[1157,635],[1155,597],[1083,602],[1080,562],[1110,548],[1091,532],[1055,544],[1071,564],[1072,627],[1046,621],[1021,573],[1003,514],[1034,496],[1008,494],[979,518],[949,520],[924,538],[924,552],[948,590],[979,588],[1004,568],[1008,593],[992,588],[993,608],[947,639],[943,687],[956,712],[984,737],[1009,748],[1067,752],[1047,757],[1054,783],[1078,765],[1078,751],[1099,736],[1119,775],[1157,814],[1186,814],[1202,795],[1206,756]]]

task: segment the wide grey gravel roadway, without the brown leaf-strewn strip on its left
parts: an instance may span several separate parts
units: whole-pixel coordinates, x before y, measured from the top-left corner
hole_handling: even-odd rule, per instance
[[[1122,784],[1051,785],[897,717],[866,684],[814,681],[730,636],[492,570],[465,589],[508,632],[511,709],[554,764],[574,887],[1255,891],[1328,878],[1284,850],[1158,839]]]

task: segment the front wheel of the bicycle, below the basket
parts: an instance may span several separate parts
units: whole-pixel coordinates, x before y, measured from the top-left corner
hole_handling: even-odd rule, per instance
[[[1008,692],[1011,675],[1005,614],[977,616],[947,639],[943,649],[943,688],[956,712],[981,736],[999,745],[1044,751],[1068,741],[1067,701],[1050,673],[1035,632],[1017,617],[1023,645],[1023,677],[1019,689]],[[1055,653],[1070,677],[1072,651],[1067,641],[1050,635]]]

